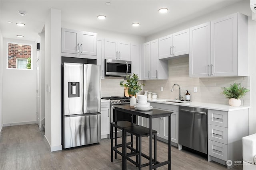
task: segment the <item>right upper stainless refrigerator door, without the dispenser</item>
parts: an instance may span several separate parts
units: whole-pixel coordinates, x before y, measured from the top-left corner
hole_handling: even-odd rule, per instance
[[[84,64],[84,113],[100,112],[100,65]]]

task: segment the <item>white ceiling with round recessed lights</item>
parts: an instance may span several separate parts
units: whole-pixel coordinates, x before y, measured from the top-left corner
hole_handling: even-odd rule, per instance
[[[112,4],[107,6],[106,2]],[[1,0],[1,31],[5,38],[24,35],[24,40],[35,41],[49,9],[55,8],[61,10],[62,22],[146,37],[236,2],[238,0]],[[160,8],[169,11],[160,14]],[[25,10],[27,15],[20,16],[18,10]],[[107,18],[99,20],[98,15]],[[26,26],[18,27],[17,22]],[[140,26],[132,27],[134,22]]]

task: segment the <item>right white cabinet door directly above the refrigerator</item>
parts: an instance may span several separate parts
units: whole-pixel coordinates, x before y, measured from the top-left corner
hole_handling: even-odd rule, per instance
[[[80,31],[80,54],[97,55],[97,33]]]

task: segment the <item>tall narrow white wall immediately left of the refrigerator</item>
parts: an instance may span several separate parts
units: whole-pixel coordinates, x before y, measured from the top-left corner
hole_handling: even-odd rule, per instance
[[[45,137],[51,151],[61,150],[60,10],[50,9],[45,22]]]

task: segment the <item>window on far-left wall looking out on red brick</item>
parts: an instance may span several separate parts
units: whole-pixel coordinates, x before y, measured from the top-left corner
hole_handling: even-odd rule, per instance
[[[15,69],[32,69],[32,45],[8,43],[8,66]]]

